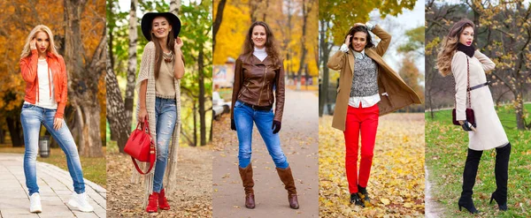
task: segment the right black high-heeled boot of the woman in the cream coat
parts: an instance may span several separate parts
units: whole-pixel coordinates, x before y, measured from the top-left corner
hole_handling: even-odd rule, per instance
[[[496,191],[492,192],[490,203],[492,203],[492,199],[495,199],[500,210],[507,210],[507,180],[510,156],[511,143],[504,147],[496,148],[496,166],[494,168]]]

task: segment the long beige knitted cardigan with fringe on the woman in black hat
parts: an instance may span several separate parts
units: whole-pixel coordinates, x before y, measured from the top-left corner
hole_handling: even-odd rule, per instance
[[[146,109],[148,110],[148,123],[150,124],[151,138],[155,145],[157,145],[157,120],[155,120],[155,43],[153,41],[148,42],[146,47],[143,50],[142,62],[140,64],[140,72],[138,73],[138,79],[136,79],[136,93],[140,95],[140,84],[144,79],[148,79],[148,90],[146,94]],[[174,191],[176,180],[177,180],[177,154],[179,149],[179,133],[181,132],[181,86],[180,79],[174,79],[175,83],[175,101],[177,103],[177,122],[175,128],[173,129],[172,143],[168,148],[168,160],[166,161],[166,169],[164,176],[164,188],[165,192],[171,194]],[[140,111],[140,101],[136,104],[136,116],[138,117],[138,112]],[[155,162],[156,164],[157,162]],[[142,163],[142,170],[149,169],[149,163]],[[153,177],[155,175],[155,166],[151,169],[150,173],[142,176],[136,171],[135,168],[132,169],[133,176],[131,181],[133,183],[141,182],[143,177],[144,184],[144,200],[143,207],[147,205],[148,198],[151,192],[153,192]]]

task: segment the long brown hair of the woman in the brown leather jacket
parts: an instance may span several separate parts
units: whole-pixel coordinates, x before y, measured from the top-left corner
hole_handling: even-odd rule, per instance
[[[255,21],[250,25],[247,36],[245,36],[245,42],[243,43],[243,54],[252,54],[254,51],[254,43],[250,39],[254,26],[264,26],[264,28],[266,28],[266,53],[267,56],[273,60],[273,63],[276,64],[280,60],[280,52],[277,43],[274,40],[273,32],[271,31],[271,28],[267,26],[266,22]]]

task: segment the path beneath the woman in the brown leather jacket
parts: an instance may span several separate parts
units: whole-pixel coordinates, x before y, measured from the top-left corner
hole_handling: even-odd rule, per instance
[[[287,90],[281,129],[281,146],[296,180],[300,208],[289,208],[287,192],[273,160],[255,127],[252,164],[257,207],[244,205],[238,172],[238,140],[230,131],[230,116],[214,123],[214,217],[318,217],[318,97],[312,92]]]

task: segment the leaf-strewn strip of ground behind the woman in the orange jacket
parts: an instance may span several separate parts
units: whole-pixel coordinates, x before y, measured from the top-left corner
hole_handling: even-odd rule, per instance
[[[106,148],[104,147],[103,149],[105,154]],[[0,153],[24,154],[24,147],[0,146]],[[68,171],[66,166],[66,156],[61,148],[51,148],[50,157],[42,158],[37,156],[37,161],[47,162],[60,169]],[[105,157],[81,157],[81,168],[83,169],[83,177],[106,188],[107,174]]]

